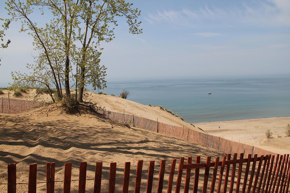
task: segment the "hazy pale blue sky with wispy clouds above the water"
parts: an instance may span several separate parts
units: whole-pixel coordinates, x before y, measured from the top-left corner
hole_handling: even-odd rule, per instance
[[[290,75],[289,0],[129,2],[141,10],[143,33],[128,33],[118,19],[115,39],[101,42],[107,79]],[[1,18],[4,7],[1,0]],[[0,82],[12,82],[11,71],[29,72],[26,64],[38,55],[20,26],[5,31],[11,43],[0,50]]]

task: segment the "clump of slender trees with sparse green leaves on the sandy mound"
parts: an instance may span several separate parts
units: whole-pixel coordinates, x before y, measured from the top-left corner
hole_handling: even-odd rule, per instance
[[[45,77],[43,80],[50,80],[49,84],[55,85],[59,98],[62,98],[61,81],[64,81],[66,96],[70,97],[69,83],[72,77],[75,78],[76,88],[79,88],[79,101],[82,101],[86,84],[92,84],[94,89],[106,87],[106,68],[99,66],[102,50],[99,46],[101,41],[113,40],[114,28],[111,29],[108,24],[117,26],[116,16],[126,16],[130,33],[142,33],[142,29],[138,29],[141,22],[136,20],[140,11],[131,8],[133,4],[125,0],[104,0],[102,3],[99,0],[26,0],[26,3],[8,0],[6,5],[12,19],[24,19],[21,31],[29,30],[34,37],[35,49],[40,50],[33,66],[34,71],[38,72],[30,75],[30,78],[15,73],[18,82],[14,82],[14,86],[20,80],[34,81],[42,74]],[[41,14],[47,9],[52,12],[54,18],[46,27],[37,27],[30,20],[35,7],[39,7]],[[85,26],[82,27],[82,24]],[[77,73],[72,76],[70,71],[73,64]]]

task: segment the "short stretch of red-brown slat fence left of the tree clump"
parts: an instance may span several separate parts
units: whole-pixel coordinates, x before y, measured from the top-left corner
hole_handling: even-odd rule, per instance
[[[0,113],[23,113],[41,105],[44,102],[1,97]]]

